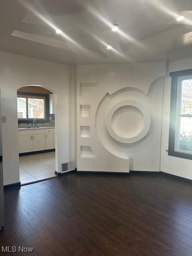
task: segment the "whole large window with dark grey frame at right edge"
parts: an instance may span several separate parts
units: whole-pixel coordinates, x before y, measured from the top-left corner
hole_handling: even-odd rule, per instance
[[[169,155],[192,159],[192,70],[172,76]]]

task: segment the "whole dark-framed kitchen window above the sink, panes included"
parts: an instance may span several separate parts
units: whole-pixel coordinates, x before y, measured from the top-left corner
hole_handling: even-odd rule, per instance
[[[30,123],[33,118],[36,122],[48,122],[49,96],[45,94],[32,94],[18,92],[17,116],[19,123]]]

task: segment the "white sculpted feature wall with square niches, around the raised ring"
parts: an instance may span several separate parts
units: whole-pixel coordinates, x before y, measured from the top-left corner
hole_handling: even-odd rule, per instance
[[[130,164],[130,170],[160,171],[165,74],[166,62],[77,66],[78,170],[126,172]],[[106,130],[108,111],[123,100],[142,104],[151,117],[148,134],[136,143],[118,142]],[[90,117],[80,116],[80,105],[90,105]],[[81,138],[80,126],[90,126],[89,138]],[[93,152],[82,146],[91,146]],[[81,149],[89,152],[83,152],[82,156]]]

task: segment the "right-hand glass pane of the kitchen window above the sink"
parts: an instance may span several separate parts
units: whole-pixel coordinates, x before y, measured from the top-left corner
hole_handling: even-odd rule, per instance
[[[28,117],[45,118],[45,100],[28,98]]]

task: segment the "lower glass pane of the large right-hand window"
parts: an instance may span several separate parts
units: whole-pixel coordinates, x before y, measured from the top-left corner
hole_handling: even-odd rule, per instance
[[[192,152],[192,117],[180,118],[178,150]]]

